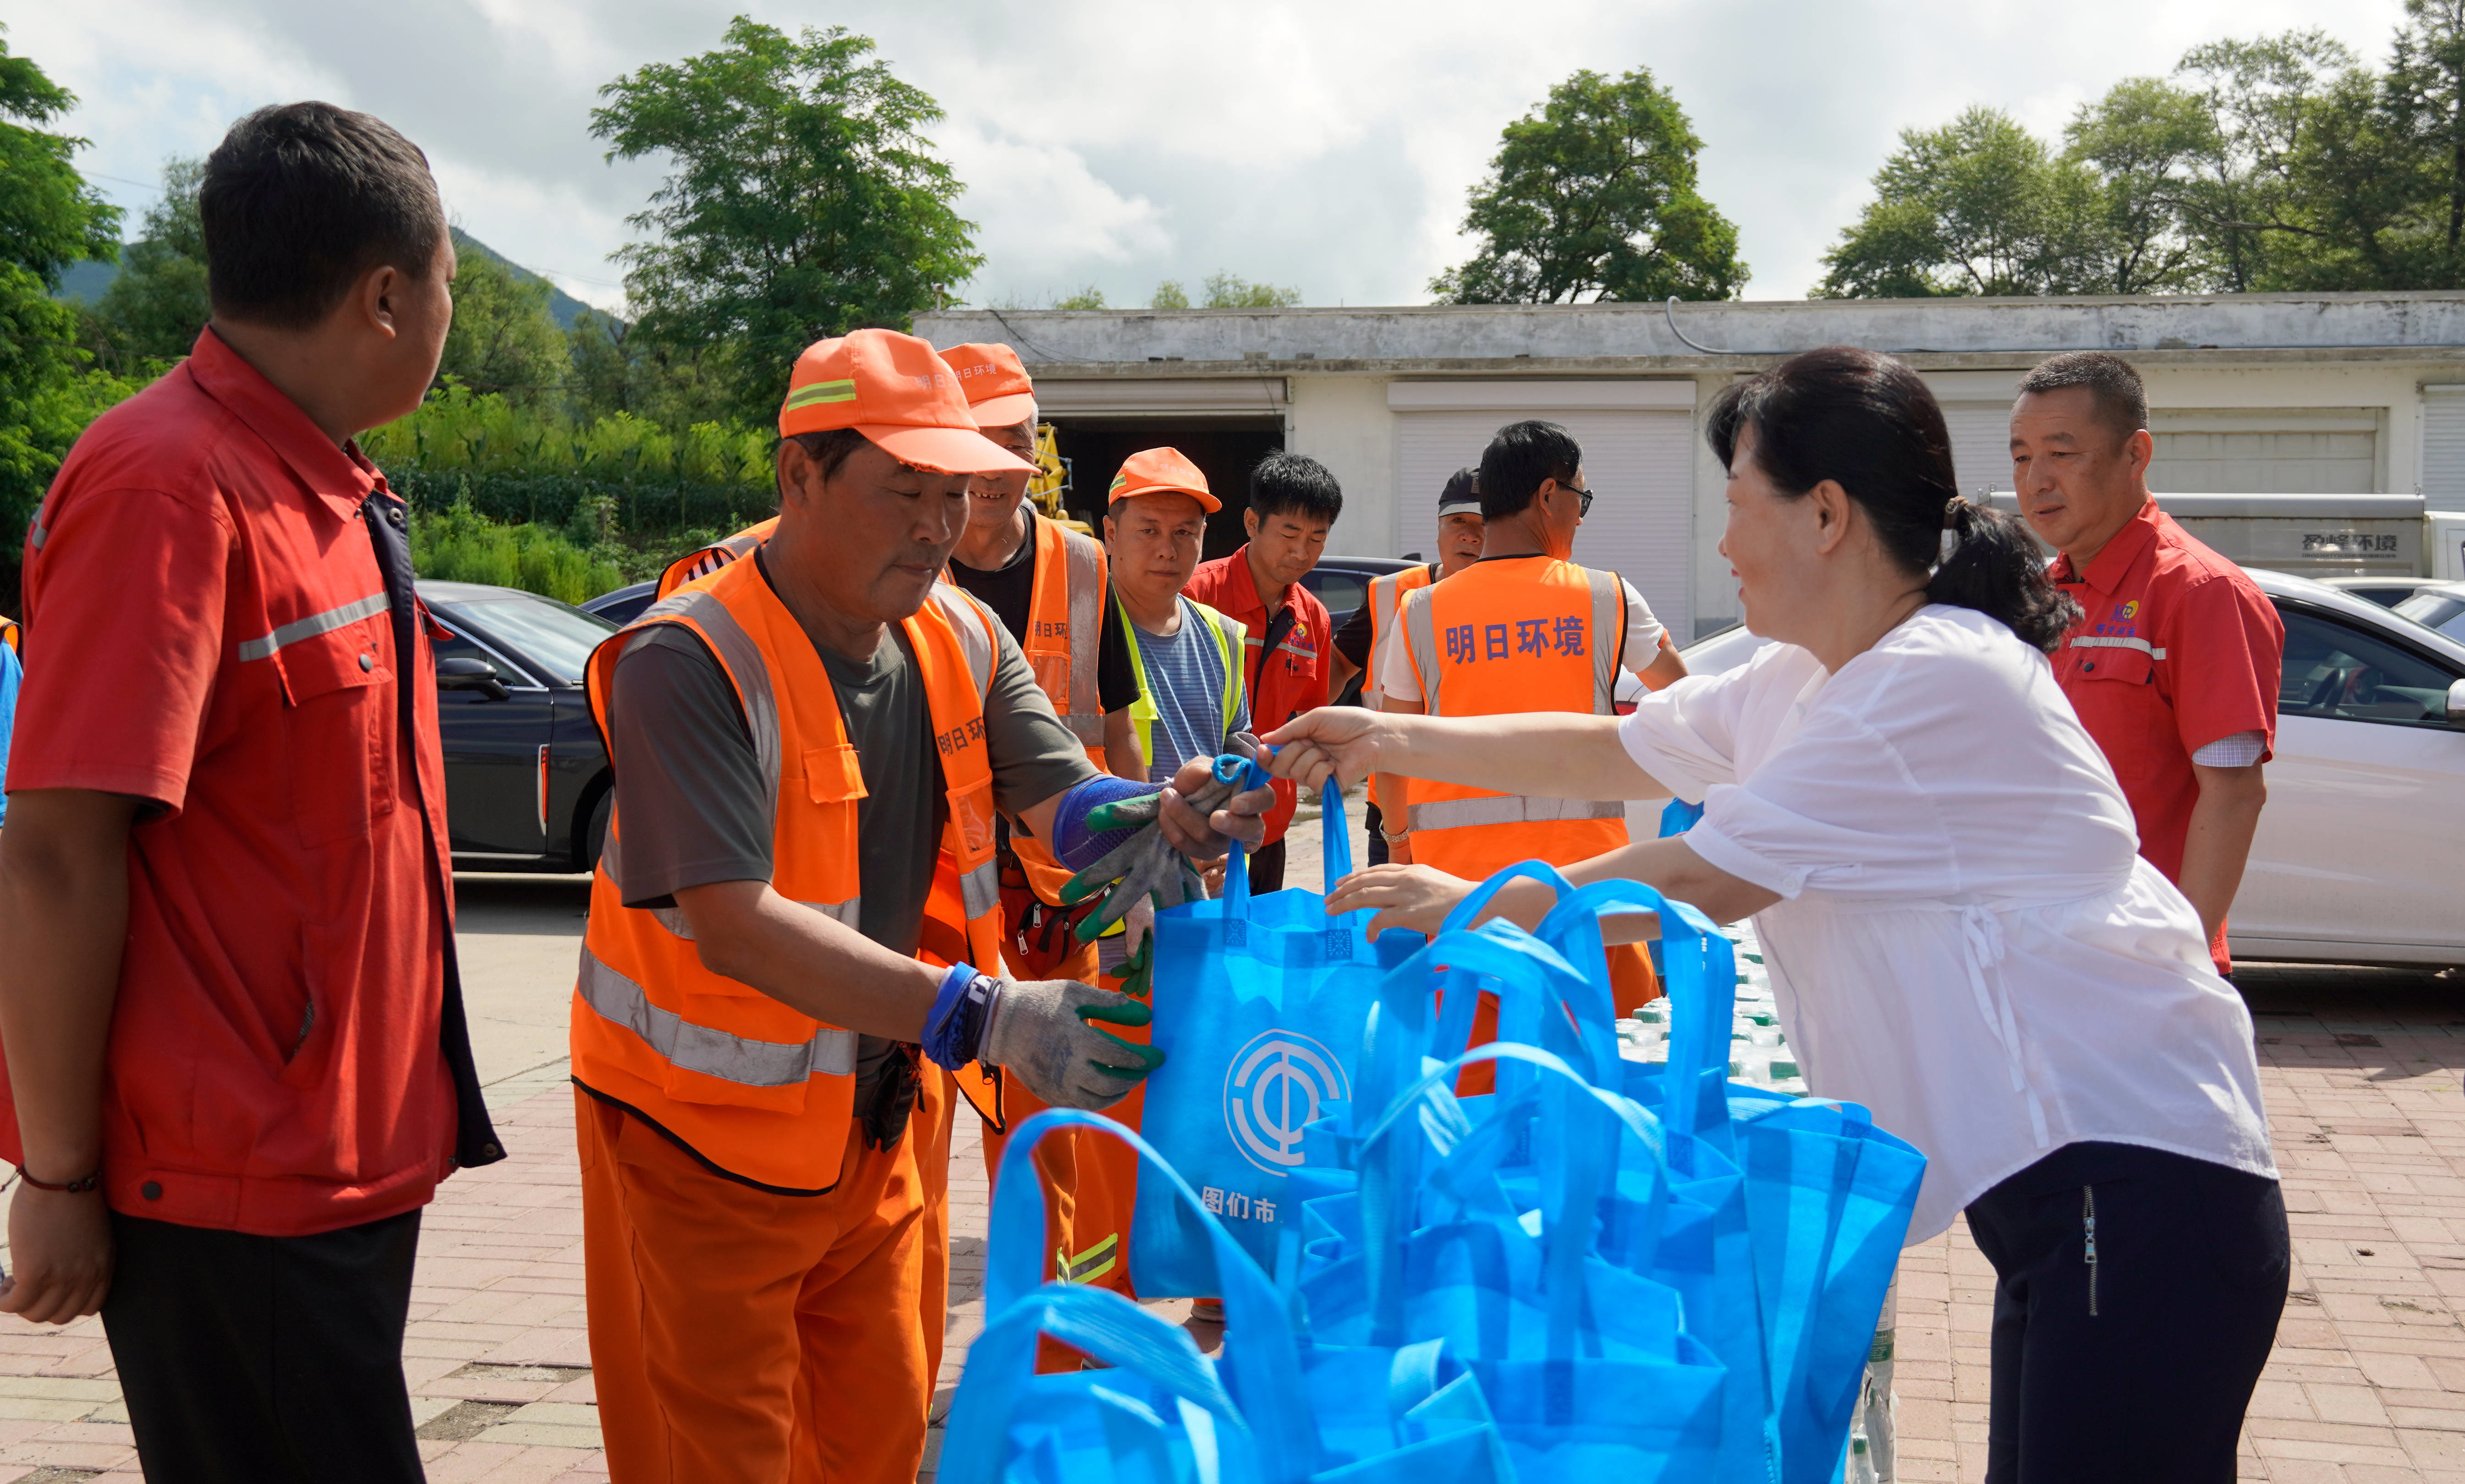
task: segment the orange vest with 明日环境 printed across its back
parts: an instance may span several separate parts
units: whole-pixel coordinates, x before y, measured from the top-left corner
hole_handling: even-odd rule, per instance
[[[1403,601],[1405,648],[1435,717],[1617,715],[1627,587],[1555,557],[1477,562]],[[1570,865],[1627,843],[1622,799],[1526,799],[1412,779],[1412,860],[1481,880],[1516,860]]]

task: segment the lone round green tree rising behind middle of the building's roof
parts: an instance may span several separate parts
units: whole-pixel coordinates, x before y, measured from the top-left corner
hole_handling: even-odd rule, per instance
[[[1738,229],[1696,190],[1701,150],[1652,71],[1578,71],[1506,126],[1464,212],[1481,247],[1430,293],[1440,303],[1730,298],[1745,264]]]

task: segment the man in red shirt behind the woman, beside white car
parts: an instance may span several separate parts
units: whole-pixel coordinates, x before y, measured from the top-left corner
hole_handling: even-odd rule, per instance
[[[2039,365],[2011,407],[2011,478],[2080,604],[2053,673],[2105,749],[2140,853],[2199,910],[2218,974],[2278,732],[2285,624],[2241,567],[2149,498],[2140,372],[2103,350]]]

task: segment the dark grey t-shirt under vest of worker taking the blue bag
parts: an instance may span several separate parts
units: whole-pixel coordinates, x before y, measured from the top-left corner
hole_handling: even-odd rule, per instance
[[[993,809],[1018,818],[1097,769],[1053,715],[1018,641],[998,624],[993,629],[998,658],[984,703]],[[831,675],[838,715],[865,774],[865,799],[855,806],[865,895],[858,932],[895,954],[915,954],[949,818],[924,680],[897,624],[863,661],[818,643],[813,651]],[[710,648],[680,624],[643,629],[616,658],[606,707],[626,907],[673,907],[683,887],[769,880],[769,781],[737,693]],[[860,1070],[870,1072],[887,1045],[868,1035],[858,1053]]]

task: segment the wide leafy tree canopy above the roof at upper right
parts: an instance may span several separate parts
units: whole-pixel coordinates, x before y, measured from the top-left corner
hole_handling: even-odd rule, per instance
[[[2324,32],[2194,47],[2061,153],[1970,108],[1908,131],[1817,293],[2465,286],[2465,0],[2406,0],[2384,69]]]

